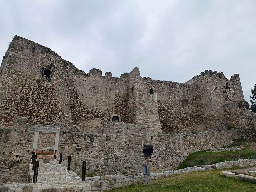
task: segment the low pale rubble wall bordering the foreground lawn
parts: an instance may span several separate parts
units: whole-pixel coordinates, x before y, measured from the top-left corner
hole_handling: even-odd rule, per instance
[[[182,173],[198,172],[198,171],[210,171],[213,169],[229,169],[233,166],[248,167],[255,166],[256,159],[239,159],[238,161],[225,161],[212,165],[202,165],[201,167],[187,167],[185,169],[164,171],[160,173],[150,173],[152,180],[157,180],[162,177],[178,175]],[[41,189],[38,184],[34,183],[12,183],[8,185],[0,185],[1,192],[46,192],[46,191],[58,191],[58,192],[103,192],[114,188],[125,187],[128,185],[134,185],[137,183],[145,183],[147,176],[142,173],[137,176],[133,175],[103,175],[95,177],[87,177],[84,185],[81,183],[80,186],[61,186],[55,188]],[[88,184],[90,186],[88,186]],[[40,184],[39,184],[40,185]]]

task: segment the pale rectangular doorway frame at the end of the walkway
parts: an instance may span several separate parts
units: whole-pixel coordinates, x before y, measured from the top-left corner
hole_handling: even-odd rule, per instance
[[[35,151],[36,151],[36,148],[37,148],[37,142],[38,142],[38,135],[39,135],[39,133],[54,133],[55,134],[54,151],[57,150],[56,154],[58,154],[60,130],[59,129],[49,129],[49,128],[36,128],[35,129],[34,142],[33,142],[33,149]],[[54,151],[53,151],[53,153],[54,153]]]

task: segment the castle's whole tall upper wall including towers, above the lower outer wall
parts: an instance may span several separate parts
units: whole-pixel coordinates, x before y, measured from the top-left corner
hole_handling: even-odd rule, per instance
[[[52,69],[49,82],[43,67]],[[1,127],[15,115],[31,124],[103,133],[111,115],[154,127],[154,132],[211,129],[224,119],[223,105],[244,100],[238,74],[205,71],[185,84],[141,78],[138,68],[120,78],[99,69],[85,73],[47,47],[15,36],[0,68]],[[153,93],[149,93],[152,89]]]

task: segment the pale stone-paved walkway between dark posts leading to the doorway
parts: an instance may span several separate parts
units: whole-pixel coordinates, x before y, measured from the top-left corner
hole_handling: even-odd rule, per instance
[[[38,161],[38,160],[37,160]],[[33,179],[32,164],[29,165],[29,174],[31,181]],[[38,178],[36,185],[38,188],[82,188],[82,191],[89,191],[91,187],[86,181],[82,181],[75,172],[68,171],[67,166],[59,164],[57,160],[51,160],[50,163],[43,163],[39,160]],[[74,190],[77,191],[77,190]]]

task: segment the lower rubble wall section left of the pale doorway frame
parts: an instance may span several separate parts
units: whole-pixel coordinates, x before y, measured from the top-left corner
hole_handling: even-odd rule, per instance
[[[15,117],[13,128],[0,129],[0,183],[27,181],[35,130],[25,123]]]

